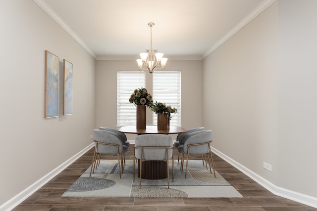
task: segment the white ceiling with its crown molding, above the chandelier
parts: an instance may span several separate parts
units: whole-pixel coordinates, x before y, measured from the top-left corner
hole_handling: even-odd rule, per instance
[[[96,59],[201,59],[274,0],[34,0]]]

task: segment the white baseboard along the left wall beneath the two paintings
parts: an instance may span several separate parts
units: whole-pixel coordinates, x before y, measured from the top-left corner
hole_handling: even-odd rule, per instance
[[[88,145],[85,149],[78,152],[76,155],[65,161],[63,164],[58,166],[56,169],[53,169],[51,172],[43,176],[41,179],[21,191],[19,194],[5,202],[0,206],[0,211],[10,211],[14,209],[16,206],[21,204],[25,199],[27,199],[29,196],[31,196],[34,192],[36,192],[38,189],[40,189],[43,185],[48,183],[51,179],[53,179],[54,176],[56,176],[58,173],[60,173],[62,170],[66,169],[69,165],[71,165],[74,161],[76,161],[78,158],[80,158],[82,155],[84,155],[88,150],[90,150],[92,147],[94,147],[94,143],[91,143]]]

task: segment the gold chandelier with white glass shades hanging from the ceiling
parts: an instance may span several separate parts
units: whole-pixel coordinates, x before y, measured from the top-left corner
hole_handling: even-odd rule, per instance
[[[154,69],[161,67],[164,69],[167,58],[163,58],[163,53],[155,53],[152,49],[152,27],[154,23],[148,23],[148,26],[151,27],[151,48],[148,53],[140,53],[141,59],[137,59],[139,69],[147,69],[149,73],[153,73]]]

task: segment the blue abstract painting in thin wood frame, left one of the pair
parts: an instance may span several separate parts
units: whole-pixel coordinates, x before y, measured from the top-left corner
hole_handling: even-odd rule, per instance
[[[45,51],[45,118],[58,116],[58,56]]]

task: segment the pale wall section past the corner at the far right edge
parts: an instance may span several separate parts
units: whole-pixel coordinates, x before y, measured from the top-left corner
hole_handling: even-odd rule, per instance
[[[317,1],[279,0],[278,5],[277,184],[317,197]],[[294,182],[298,176],[303,179]]]

